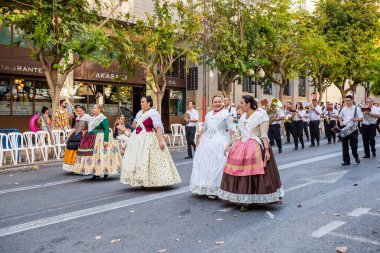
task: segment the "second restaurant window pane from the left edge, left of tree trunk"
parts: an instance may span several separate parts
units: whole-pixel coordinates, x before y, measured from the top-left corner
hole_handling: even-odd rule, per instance
[[[14,79],[12,86],[12,114],[33,115],[33,81]]]

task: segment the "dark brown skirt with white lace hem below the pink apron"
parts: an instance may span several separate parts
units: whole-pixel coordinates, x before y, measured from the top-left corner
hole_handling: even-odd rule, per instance
[[[232,176],[223,173],[219,198],[236,204],[276,204],[284,196],[280,173],[272,149],[265,174]]]

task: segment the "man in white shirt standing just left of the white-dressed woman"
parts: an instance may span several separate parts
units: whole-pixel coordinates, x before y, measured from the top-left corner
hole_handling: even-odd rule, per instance
[[[191,147],[196,148],[194,139],[195,139],[195,133],[197,130],[197,122],[199,121],[199,114],[197,110],[194,109],[195,103],[194,101],[189,101],[187,103],[189,110],[186,111],[187,114],[189,114],[189,118],[186,119],[186,142],[187,142],[187,156],[185,159],[193,158]]]

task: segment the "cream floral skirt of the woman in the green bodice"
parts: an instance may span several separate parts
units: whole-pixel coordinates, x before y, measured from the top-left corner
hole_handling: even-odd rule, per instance
[[[104,133],[97,133],[92,155],[80,156],[75,160],[73,172],[81,175],[112,176],[120,173],[121,155],[117,142],[109,136],[108,147],[104,148]]]

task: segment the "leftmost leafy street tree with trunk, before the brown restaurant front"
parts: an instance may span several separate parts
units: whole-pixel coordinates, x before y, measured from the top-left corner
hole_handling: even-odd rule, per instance
[[[67,76],[85,59],[111,64],[106,53],[108,36],[103,29],[108,18],[102,17],[107,7],[101,1],[90,5],[87,0],[12,0],[4,5],[0,20],[22,33],[31,57],[40,62],[53,112],[59,106]]]

